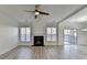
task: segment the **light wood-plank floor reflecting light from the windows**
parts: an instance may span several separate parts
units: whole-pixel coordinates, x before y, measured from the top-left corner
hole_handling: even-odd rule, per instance
[[[86,59],[87,46],[20,46],[4,59]]]

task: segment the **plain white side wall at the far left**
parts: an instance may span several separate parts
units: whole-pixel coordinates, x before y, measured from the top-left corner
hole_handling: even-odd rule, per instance
[[[0,13],[0,54],[18,46],[18,24],[6,14]]]

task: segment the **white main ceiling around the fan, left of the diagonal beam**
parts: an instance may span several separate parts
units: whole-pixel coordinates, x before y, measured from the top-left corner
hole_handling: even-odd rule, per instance
[[[81,7],[83,4],[41,4],[40,9],[42,11],[50,12],[51,15],[47,17],[39,15],[37,20],[44,22],[53,22],[53,21],[58,22]],[[34,4],[8,4],[8,6],[4,4],[0,6],[0,14],[3,14],[4,17],[14,20],[17,22],[32,22],[33,20],[35,20],[34,13],[24,12],[23,10],[33,11],[34,9],[35,9]],[[84,13],[81,15],[86,14],[87,13]],[[80,17],[78,15],[77,18]]]

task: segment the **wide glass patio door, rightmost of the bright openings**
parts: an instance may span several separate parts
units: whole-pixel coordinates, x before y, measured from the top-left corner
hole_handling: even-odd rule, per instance
[[[76,44],[77,43],[77,30],[65,29],[64,30],[64,44]]]

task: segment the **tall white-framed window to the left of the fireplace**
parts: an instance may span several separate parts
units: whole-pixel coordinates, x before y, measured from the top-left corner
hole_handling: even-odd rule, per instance
[[[21,42],[31,41],[31,28],[20,28],[20,41]]]

